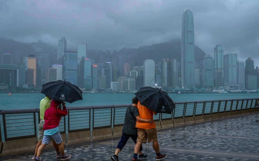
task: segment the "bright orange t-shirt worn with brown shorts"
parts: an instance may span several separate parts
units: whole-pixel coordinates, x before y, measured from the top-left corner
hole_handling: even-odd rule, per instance
[[[139,110],[139,117],[143,119],[152,119],[153,120],[153,114],[155,112],[151,111],[147,107],[141,105],[139,102],[137,104],[137,108]],[[136,128],[140,129],[154,129],[156,128],[156,124],[153,122],[152,124],[147,123],[147,122],[136,122]]]

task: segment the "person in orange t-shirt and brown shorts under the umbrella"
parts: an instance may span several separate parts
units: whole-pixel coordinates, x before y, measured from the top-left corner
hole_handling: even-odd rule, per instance
[[[151,119],[153,120],[153,114],[156,115],[155,112],[151,111],[147,107],[143,106],[138,102],[137,108],[139,110],[139,117],[143,119]],[[157,142],[157,130],[156,124],[153,122],[152,124],[146,122],[136,121],[136,128],[138,128],[138,138],[137,143],[134,148],[134,157],[132,161],[138,160],[138,151],[140,145],[142,143],[146,143],[148,139],[148,143],[153,142],[153,149],[156,152],[156,160],[163,160],[166,158],[166,154],[161,154],[159,149],[159,143]]]

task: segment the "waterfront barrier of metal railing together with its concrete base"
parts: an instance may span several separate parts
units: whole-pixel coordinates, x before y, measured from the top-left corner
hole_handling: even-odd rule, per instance
[[[159,113],[154,115],[154,121],[160,128],[183,125],[256,112],[259,111],[258,104],[259,98],[175,102],[176,108],[172,114]],[[70,145],[121,134],[128,106],[68,107],[68,115],[62,117],[59,125],[63,142]],[[0,128],[0,156],[9,155],[10,152],[6,150],[10,151],[14,147],[17,153],[33,150],[31,145],[36,143],[40,122],[39,109],[0,110],[0,115],[3,121],[3,127]],[[17,146],[18,141],[20,146]],[[29,147],[26,148],[26,145]]]

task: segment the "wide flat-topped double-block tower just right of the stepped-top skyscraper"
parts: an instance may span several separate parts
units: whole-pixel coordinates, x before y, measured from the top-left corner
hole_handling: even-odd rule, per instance
[[[237,54],[227,54],[224,55],[224,75],[226,75],[226,79],[224,83],[227,84],[236,84],[237,83]],[[225,73],[226,72],[226,73]]]

